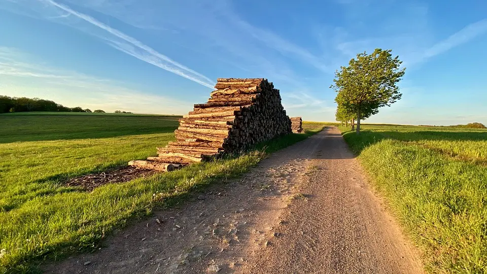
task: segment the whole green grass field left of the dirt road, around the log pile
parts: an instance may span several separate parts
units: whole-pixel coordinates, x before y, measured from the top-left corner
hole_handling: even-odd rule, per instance
[[[92,250],[116,227],[170,207],[191,191],[238,176],[267,153],[323,128],[304,123],[238,157],[201,163],[93,192],[60,184],[156,154],[173,141],[178,117],[130,114],[0,115],[0,272],[33,272],[43,259]]]

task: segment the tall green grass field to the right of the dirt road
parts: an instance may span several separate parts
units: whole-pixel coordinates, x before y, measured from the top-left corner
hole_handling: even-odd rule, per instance
[[[341,128],[434,273],[487,272],[487,130]]]

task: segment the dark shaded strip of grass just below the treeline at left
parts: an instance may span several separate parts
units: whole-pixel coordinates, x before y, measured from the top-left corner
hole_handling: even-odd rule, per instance
[[[180,116],[118,113],[20,112],[0,114],[0,144],[171,133]]]

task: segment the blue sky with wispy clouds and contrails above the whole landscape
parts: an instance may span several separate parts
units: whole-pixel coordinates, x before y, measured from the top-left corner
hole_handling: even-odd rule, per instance
[[[367,122],[487,124],[485,1],[1,0],[0,94],[184,114],[216,78],[263,77],[333,121],[340,65],[392,49],[403,98]]]

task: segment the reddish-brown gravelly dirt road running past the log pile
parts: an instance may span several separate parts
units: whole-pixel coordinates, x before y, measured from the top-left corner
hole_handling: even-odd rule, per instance
[[[199,196],[199,197],[198,197]],[[160,224],[157,222],[159,220]],[[111,236],[52,273],[422,273],[337,128]]]

